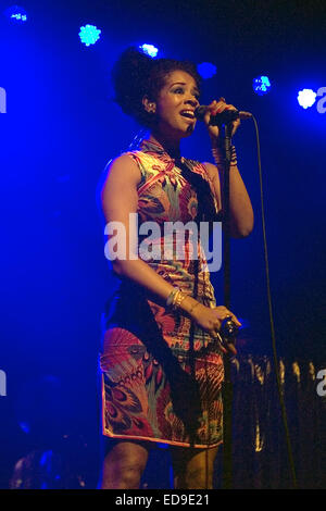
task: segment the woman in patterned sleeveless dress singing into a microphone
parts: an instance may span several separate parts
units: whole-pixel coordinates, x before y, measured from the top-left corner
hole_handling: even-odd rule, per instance
[[[216,307],[200,239],[193,242],[190,229],[178,250],[177,233],[166,234],[165,225],[223,219],[221,133],[209,123],[212,114],[234,107],[223,98],[209,105],[204,122],[215,164],[200,163],[180,154],[199,105],[195,64],[152,60],[129,48],[112,76],[116,102],[150,135],[111,162],[101,189],[106,224],[118,222],[127,240],[125,257],[112,258],[120,286],[105,316],[100,357],[106,445],[101,487],[139,488],[149,450],[164,443],[171,446],[176,488],[212,488],[222,443],[225,351],[216,333],[226,316],[240,323]],[[238,125],[235,121],[233,133]],[[253,212],[234,148],[229,179],[230,233],[244,237]],[[146,222],[158,226],[150,236],[152,257],[141,233]]]

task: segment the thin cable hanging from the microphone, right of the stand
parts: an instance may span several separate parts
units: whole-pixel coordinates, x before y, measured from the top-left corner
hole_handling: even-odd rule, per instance
[[[252,115],[252,120],[253,120],[254,127],[255,127],[256,148],[258,148],[258,164],[259,164],[261,209],[262,209],[262,228],[263,228],[263,241],[264,241],[264,259],[265,259],[267,301],[268,301],[268,313],[269,313],[269,322],[271,322],[271,335],[272,335],[272,349],[273,349],[274,369],[275,369],[275,374],[276,374],[277,391],[278,391],[278,399],[279,399],[279,404],[280,404],[280,410],[281,410],[283,424],[284,424],[284,428],[285,428],[287,453],[288,453],[288,461],[289,461],[289,466],[290,466],[291,479],[292,479],[293,488],[296,489],[297,488],[296,468],[294,468],[291,439],[290,439],[289,427],[288,427],[286,404],[285,404],[285,400],[284,400],[284,396],[283,396],[283,391],[281,391],[281,384],[280,384],[280,377],[279,377],[279,364],[278,364],[277,349],[276,349],[276,339],[275,339],[274,315],[273,315],[272,294],[271,294],[271,285],[269,285],[269,264],[268,264],[268,251],[267,251],[266,226],[265,226],[265,209],[264,209],[264,195],[263,195],[260,136],[259,136],[258,122],[256,122],[256,120],[253,115]]]

